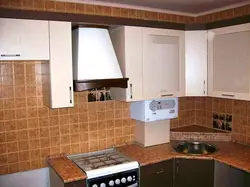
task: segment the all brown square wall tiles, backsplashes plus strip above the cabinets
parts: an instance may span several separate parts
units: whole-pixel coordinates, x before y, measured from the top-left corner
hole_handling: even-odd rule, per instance
[[[250,14],[250,5],[197,18],[45,0],[0,0],[0,7],[179,23],[211,22]],[[81,92],[75,93],[74,108],[45,107],[41,62],[2,62],[0,78],[0,174],[43,167],[49,154],[94,151],[134,140],[134,122],[129,118],[127,103],[88,103],[87,92]],[[250,144],[250,104],[246,101],[180,98],[179,118],[171,120],[171,128],[192,124],[212,127],[214,111],[231,113],[233,139]]]

